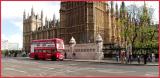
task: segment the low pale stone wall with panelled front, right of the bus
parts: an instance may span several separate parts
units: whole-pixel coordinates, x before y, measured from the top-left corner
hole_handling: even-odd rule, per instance
[[[75,57],[73,57],[73,52],[71,51],[71,47],[69,45],[65,45],[65,52],[67,55],[66,56],[67,59],[96,60],[97,45],[96,43],[76,44],[73,49]]]

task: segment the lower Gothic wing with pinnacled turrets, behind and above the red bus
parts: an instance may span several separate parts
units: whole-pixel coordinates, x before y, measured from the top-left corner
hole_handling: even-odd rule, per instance
[[[45,18],[45,25],[43,25],[43,11],[41,15],[35,15],[33,8],[31,15],[23,14],[23,49],[30,51],[30,44],[32,40],[49,39],[58,37],[59,21],[53,16],[53,20]]]

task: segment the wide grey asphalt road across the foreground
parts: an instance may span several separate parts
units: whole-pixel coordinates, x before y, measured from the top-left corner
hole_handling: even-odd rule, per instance
[[[3,57],[2,76],[158,76],[158,66]]]

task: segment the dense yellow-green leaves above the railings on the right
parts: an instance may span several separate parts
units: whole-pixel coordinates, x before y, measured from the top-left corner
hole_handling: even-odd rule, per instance
[[[147,15],[143,11],[135,12],[134,10],[131,15],[139,16],[132,18],[139,21],[129,22],[130,17],[120,19],[117,25],[121,26],[123,30],[121,36],[125,37],[128,44],[131,44],[134,48],[158,48],[158,25],[150,24],[151,17],[149,14]],[[158,50],[154,52],[158,53]],[[140,52],[137,51],[136,54],[140,54]]]

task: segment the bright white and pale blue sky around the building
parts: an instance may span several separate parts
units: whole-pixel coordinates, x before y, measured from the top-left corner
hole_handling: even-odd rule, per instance
[[[121,1],[114,2],[120,6]],[[19,43],[19,48],[22,48],[23,41],[23,12],[26,11],[30,15],[31,8],[34,8],[35,14],[40,14],[43,10],[44,17],[52,19],[53,14],[59,19],[60,2],[58,1],[2,1],[1,3],[2,13],[2,40],[8,40],[10,43]],[[137,6],[143,6],[143,1],[125,1],[125,5],[129,6],[136,4]],[[146,1],[147,7],[155,9],[153,14],[154,22],[159,20],[159,2],[158,1]]]

